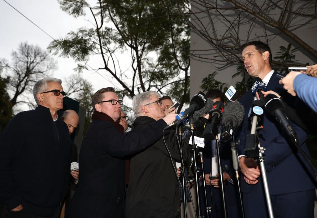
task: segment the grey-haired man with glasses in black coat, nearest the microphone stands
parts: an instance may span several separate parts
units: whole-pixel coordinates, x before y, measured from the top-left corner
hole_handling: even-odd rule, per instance
[[[147,91],[134,96],[133,112],[136,119],[133,131],[164,118],[164,107],[157,92]],[[181,155],[176,132],[167,130],[164,133],[164,139],[161,134],[161,138],[153,141],[151,147],[131,158],[126,197],[127,218],[180,216],[176,161],[181,162]],[[188,141],[189,138],[182,140],[184,161],[189,157]]]

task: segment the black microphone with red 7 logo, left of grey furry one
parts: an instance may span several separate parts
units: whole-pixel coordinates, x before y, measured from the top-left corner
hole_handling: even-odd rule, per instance
[[[212,121],[207,124],[204,129],[205,139],[213,140],[216,138],[216,135],[218,134],[217,120],[222,117],[223,108],[223,103],[221,101],[216,101],[213,104],[212,109],[208,112],[210,117],[212,117]]]

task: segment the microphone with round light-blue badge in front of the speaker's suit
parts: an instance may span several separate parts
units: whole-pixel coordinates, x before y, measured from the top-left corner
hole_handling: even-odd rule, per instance
[[[263,104],[260,100],[255,100],[249,110],[249,120],[251,120],[251,132],[245,137],[245,154],[247,157],[256,158],[259,156],[258,138],[256,135],[257,123],[261,121],[263,116]]]

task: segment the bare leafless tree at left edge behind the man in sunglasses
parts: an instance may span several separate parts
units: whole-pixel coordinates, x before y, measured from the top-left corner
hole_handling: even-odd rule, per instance
[[[28,94],[32,93],[36,81],[50,75],[50,71],[55,68],[55,61],[48,52],[27,42],[21,42],[11,56],[11,62],[0,60],[0,67],[9,80],[7,90],[11,104],[34,106],[31,103],[34,100],[26,98],[30,98]]]

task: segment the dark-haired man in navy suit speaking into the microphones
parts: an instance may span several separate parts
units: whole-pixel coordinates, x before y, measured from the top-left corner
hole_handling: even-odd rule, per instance
[[[275,77],[276,72],[271,68],[272,53],[267,44],[259,41],[245,43],[242,45],[242,60],[250,76],[260,77],[267,84],[267,90],[270,91],[264,94],[273,91],[281,96],[284,104],[290,108],[304,105],[300,99],[286,93],[279,84],[279,79]],[[255,96],[251,90],[243,94],[241,103],[245,111],[249,111],[254,100]],[[297,117],[296,109],[291,116]],[[259,141],[266,149],[264,163],[275,217],[314,217],[316,178],[313,170],[297,149],[288,143],[287,134],[280,128],[274,116],[264,110],[261,122],[264,131],[258,131]],[[299,145],[309,156],[305,143],[307,133],[299,125],[290,123],[297,133]],[[248,113],[245,113],[240,133],[238,132],[242,145],[238,152],[241,155],[239,159],[243,173],[241,189],[245,217],[268,217],[259,163],[244,156],[245,136],[250,134],[250,131],[251,122],[248,121]]]

